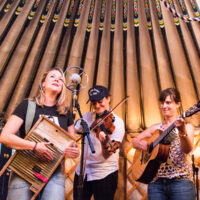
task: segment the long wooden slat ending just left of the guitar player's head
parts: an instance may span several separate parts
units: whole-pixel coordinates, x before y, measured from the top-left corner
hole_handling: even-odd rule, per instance
[[[141,63],[141,87],[144,108],[144,122],[148,127],[161,121],[158,104],[158,84],[156,78],[155,64],[152,46],[147,27],[146,13],[143,1],[138,1],[139,9],[139,43]],[[152,102],[153,105],[152,105]]]

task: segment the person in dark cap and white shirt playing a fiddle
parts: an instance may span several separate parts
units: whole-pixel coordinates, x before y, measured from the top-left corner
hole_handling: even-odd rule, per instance
[[[123,120],[110,110],[110,94],[104,86],[95,86],[88,91],[89,101],[93,112],[87,112],[83,118],[87,121],[91,134],[90,138],[95,148],[92,153],[85,143],[85,173],[82,199],[112,200],[117,189],[119,168],[119,145],[125,130]],[[107,114],[110,115],[98,124]],[[81,126],[76,125],[80,130]],[[74,199],[77,199],[77,184],[80,174],[80,162],[74,178]]]

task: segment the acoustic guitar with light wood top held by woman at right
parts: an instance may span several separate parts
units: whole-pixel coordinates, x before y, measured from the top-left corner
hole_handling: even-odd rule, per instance
[[[181,117],[190,117],[199,111],[200,102],[189,108]],[[161,163],[166,162],[169,155],[169,144],[162,144],[162,141],[175,127],[172,123],[164,132],[156,130],[150,138],[145,138],[149,144],[148,151],[136,149],[132,165],[135,181],[148,184],[153,180]]]

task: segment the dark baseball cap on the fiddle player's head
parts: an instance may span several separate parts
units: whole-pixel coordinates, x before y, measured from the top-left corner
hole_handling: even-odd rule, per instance
[[[104,97],[110,96],[109,91],[106,87],[102,85],[96,85],[88,90],[90,101],[100,101]]]

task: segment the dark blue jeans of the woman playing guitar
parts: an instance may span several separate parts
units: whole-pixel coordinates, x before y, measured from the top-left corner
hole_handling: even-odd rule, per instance
[[[195,200],[192,181],[160,178],[148,186],[148,200]]]

